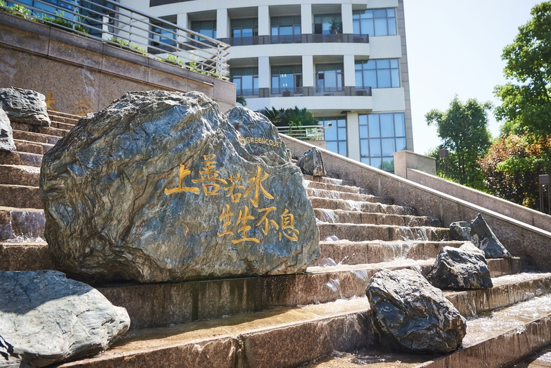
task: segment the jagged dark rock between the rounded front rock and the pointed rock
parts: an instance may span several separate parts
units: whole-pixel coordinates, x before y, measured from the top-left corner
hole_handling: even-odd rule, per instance
[[[440,249],[427,279],[439,289],[493,287],[484,252],[472,243],[465,243],[459,249],[452,246]]]

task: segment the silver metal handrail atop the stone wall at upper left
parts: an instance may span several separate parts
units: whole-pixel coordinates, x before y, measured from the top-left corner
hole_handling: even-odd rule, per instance
[[[46,0],[34,0],[35,6],[29,6],[21,1],[10,1],[10,3],[23,6],[30,11],[30,14],[18,13],[7,6],[6,1],[4,6],[0,5],[0,10],[70,30],[77,35],[110,43],[194,72],[224,80],[229,79],[228,48],[230,45],[228,43],[201,35],[199,32],[177,26],[116,1],[58,0],[54,4]],[[54,12],[39,8],[39,4],[54,8]],[[45,18],[44,15],[47,17]],[[154,28],[162,28],[163,32],[155,32]],[[170,43],[162,40],[170,40]]]

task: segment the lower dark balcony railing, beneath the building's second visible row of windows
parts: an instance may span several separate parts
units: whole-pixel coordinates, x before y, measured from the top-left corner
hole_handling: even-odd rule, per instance
[[[237,90],[244,97],[371,96],[371,87],[291,87]]]

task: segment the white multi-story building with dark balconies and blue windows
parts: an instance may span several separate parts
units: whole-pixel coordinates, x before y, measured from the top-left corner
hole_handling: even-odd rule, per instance
[[[413,150],[403,0],[120,3],[229,43],[248,108],[308,108],[328,150],[388,171]]]

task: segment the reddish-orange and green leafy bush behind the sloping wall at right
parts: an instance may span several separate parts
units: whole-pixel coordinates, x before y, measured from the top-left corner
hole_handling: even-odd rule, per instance
[[[538,209],[538,175],[550,168],[551,137],[532,133],[503,135],[479,159],[492,195]]]

